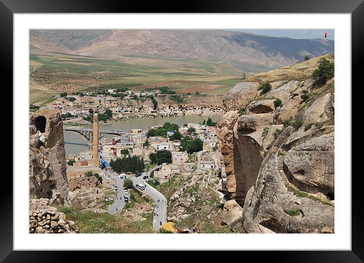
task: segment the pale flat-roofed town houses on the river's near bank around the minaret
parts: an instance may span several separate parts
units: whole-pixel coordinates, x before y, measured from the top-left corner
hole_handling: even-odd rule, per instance
[[[165,126],[170,126],[165,123]],[[150,126],[147,130],[135,128],[127,133],[120,134],[113,138],[103,138],[99,141],[100,168],[104,163],[122,158],[123,156],[137,156],[145,163],[150,164],[150,154],[168,151],[171,153],[171,163],[163,163],[159,171],[154,172],[154,179],[158,182],[165,182],[175,174],[192,171],[199,167],[201,170],[214,170],[217,167],[214,156],[217,155],[218,139],[215,133],[215,126],[208,126],[196,123],[180,125],[176,130],[167,131],[161,136],[148,136],[148,131],[162,128],[163,125]],[[179,140],[174,139],[178,134]],[[201,142],[201,152],[198,159],[193,159],[196,155],[194,150],[187,151],[186,146],[181,145],[183,138],[192,138]],[[98,171],[99,167],[93,165],[93,150],[86,150],[79,155],[70,154],[66,159],[71,166],[67,168],[67,178],[85,177],[87,171]]]

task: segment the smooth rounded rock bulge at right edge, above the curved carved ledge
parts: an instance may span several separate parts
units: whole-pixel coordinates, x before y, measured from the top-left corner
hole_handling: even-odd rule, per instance
[[[284,156],[293,184],[310,193],[335,193],[334,134],[306,141]]]

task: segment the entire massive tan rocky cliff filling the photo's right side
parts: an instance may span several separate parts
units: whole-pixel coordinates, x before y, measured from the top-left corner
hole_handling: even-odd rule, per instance
[[[297,74],[302,67],[278,70],[280,78],[264,74],[274,80],[264,94],[253,78],[224,99],[222,176],[226,193],[244,208],[242,232],[334,231],[334,81],[313,85],[307,72]]]

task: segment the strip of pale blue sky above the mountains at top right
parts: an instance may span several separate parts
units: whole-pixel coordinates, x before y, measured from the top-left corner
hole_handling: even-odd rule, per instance
[[[323,39],[327,32],[327,39],[335,39],[334,29],[226,29],[228,31],[242,31],[270,37],[287,37],[292,39]]]

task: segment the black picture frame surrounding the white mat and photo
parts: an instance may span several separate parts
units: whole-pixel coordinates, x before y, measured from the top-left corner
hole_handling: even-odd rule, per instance
[[[364,51],[364,3],[363,0],[306,0],[306,1],[184,1],[178,5],[169,2],[95,1],[95,0],[0,0],[0,63],[3,79],[13,83],[13,14],[14,13],[350,13],[352,22],[352,86],[362,87],[360,65]],[[171,8],[174,6],[174,8]],[[169,7],[166,10],[166,7]],[[360,74],[361,73],[361,74]],[[361,84],[361,85],[360,85]],[[347,87],[349,88],[349,87]],[[349,92],[350,90],[348,90]],[[14,97],[13,100],[16,100]],[[352,103],[353,105],[353,103]],[[352,117],[353,120],[353,117]],[[14,121],[14,120],[13,120]],[[348,127],[350,128],[350,127]],[[14,138],[13,138],[14,139]],[[14,153],[16,154],[16,153]],[[351,154],[351,153],[347,153]],[[354,157],[354,155],[352,155]],[[358,157],[357,157],[358,158]],[[15,158],[13,158],[15,161]],[[17,160],[21,161],[21,160]],[[25,161],[25,160],[24,160]],[[355,162],[354,162],[355,163]],[[13,165],[15,165],[13,163]],[[279,262],[363,262],[364,214],[361,173],[352,176],[352,250],[350,251],[245,251],[238,260],[245,260],[259,253],[259,259]],[[15,175],[24,176],[25,175]],[[351,175],[341,175],[349,176]],[[13,178],[3,172],[2,176],[0,260],[4,262],[54,262],[69,261],[72,252],[60,251],[13,251]],[[6,185],[6,187],[4,186]],[[340,215],[337,215],[340,216]],[[305,248],[302,248],[305,249]],[[249,253],[249,254],[247,254]],[[86,253],[83,253],[86,254]],[[83,261],[92,259],[95,253],[83,255]],[[256,255],[256,254],[255,254]]]

